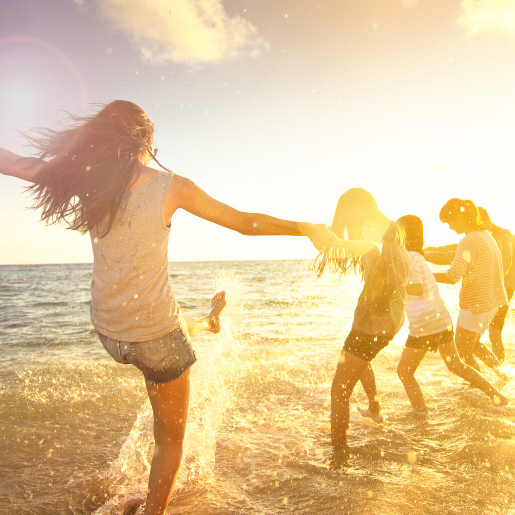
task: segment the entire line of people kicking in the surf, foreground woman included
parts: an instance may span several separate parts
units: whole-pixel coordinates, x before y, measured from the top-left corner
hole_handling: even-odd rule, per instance
[[[513,237],[486,215],[479,217],[471,201],[451,199],[442,208],[441,220],[465,237],[449,270],[433,274],[426,263],[430,253],[424,257],[420,218],[407,215],[391,221],[362,188],[340,197],[331,227],[238,211],[215,200],[157,161],[153,124],[132,102],[115,100],[91,116],[71,117],[59,130],[39,128],[26,136],[38,157],[0,149],[0,172],[29,181],[26,189],[44,222],[90,234],[93,327],[117,362],[136,366],[145,378],[156,445],[141,513],[166,510],[179,472],[190,368],[196,361],[190,337],[199,331],[218,332],[226,304],[220,291],[207,316],[181,313],[168,282],[170,221],[178,209],[246,235],[307,236],[319,251],[314,262],[319,276],[324,271],[363,274],[363,290],[331,388],[331,440],[336,448],[346,445],[349,401],[358,381],[369,399],[363,414],[382,420],[371,361],[399,332],[405,313],[409,336],[398,374],[414,407],[425,407],[414,374],[428,350],[438,350],[452,372],[496,404],[508,402],[480,374],[474,356],[494,369],[504,359],[502,323],[515,286]],[[160,170],[148,166],[152,160]],[[501,240],[510,241],[509,265]],[[437,282],[460,279],[454,335]],[[489,325],[495,354],[479,341]]]

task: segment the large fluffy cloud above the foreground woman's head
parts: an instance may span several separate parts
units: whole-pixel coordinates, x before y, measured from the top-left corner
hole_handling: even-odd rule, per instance
[[[99,0],[99,7],[156,64],[219,62],[268,48],[250,22],[228,15],[222,0]]]

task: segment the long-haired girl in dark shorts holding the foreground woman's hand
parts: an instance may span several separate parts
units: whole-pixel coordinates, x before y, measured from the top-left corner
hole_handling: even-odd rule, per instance
[[[326,268],[340,276],[359,269],[364,280],[331,387],[331,441],[344,447],[349,401],[358,380],[369,399],[366,414],[382,420],[370,362],[404,322],[409,257],[402,231],[379,211],[363,188],[351,188],[341,195],[331,229],[335,234],[315,261],[318,275]]]

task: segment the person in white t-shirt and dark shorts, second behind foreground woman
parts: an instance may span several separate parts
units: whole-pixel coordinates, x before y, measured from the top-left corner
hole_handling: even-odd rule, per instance
[[[411,405],[425,410],[424,397],[415,372],[427,351],[440,352],[447,368],[479,388],[493,399],[495,404],[506,404],[502,396],[479,372],[463,363],[454,344],[452,319],[443,303],[435,276],[424,259],[424,229],[422,220],[406,215],[397,220],[404,229],[406,250],[409,252],[410,276],[406,286],[405,303],[409,322],[409,335],[397,367]]]

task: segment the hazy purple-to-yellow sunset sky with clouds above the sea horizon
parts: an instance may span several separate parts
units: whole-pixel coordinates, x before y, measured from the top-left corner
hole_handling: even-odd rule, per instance
[[[515,0],[17,0],[0,4],[0,146],[120,98],[160,161],[236,209],[330,223],[367,188],[427,245],[470,198],[515,231]],[[0,264],[92,262],[0,176]],[[170,261],[314,258],[306,238],[242,236],[185,212]]]

